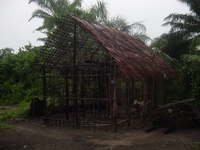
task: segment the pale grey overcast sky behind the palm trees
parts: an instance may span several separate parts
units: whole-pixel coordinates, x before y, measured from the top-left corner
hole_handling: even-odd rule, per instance
[[[162,27],[163,19],[171,13],[189,13],[189,8],[177,0],[104,0],[110,16],[121,15],[129,23],[142,21],[147,28],[147,35],[155,38],[168,27]],[[83,0],[84,7],[96,3],[96,0]],[[42,20],[28,21],[37,6],[28,4],[28,0],[0,0],[0,49],[9,47],[17,51],[20,47],[32,43],[42,45],[37,41],[43,37],[34,31],[42,24]]]

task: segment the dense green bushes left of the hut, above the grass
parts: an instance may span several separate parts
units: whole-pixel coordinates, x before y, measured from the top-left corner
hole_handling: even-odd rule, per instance
[[[0,104],[14,105],[29,101],[39,92],[38,72],[32,72],[33,61],[39,47],[26,45],[17,54],[8,52],[0,59]],[[3,51],[2,49],[0,51]],[[9,51],[9,49],[7,49]]]

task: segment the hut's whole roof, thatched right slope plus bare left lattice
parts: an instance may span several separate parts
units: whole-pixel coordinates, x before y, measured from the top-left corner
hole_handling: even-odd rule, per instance
[[[63,60],[61,57],[73,59],[73,56],[67,51],[69,51],[69,47],[73,48],[74,45],[71,39],[73,37],[71,31],[74,30],[73,26],[76,23],[76,26],[84,30],[84,33],[106,50],[110,57],[114,59],[119,70],[128,79],[147,80],[150,77],[163,75],[176,76],[169,65],[136,37],[74,15],[67,14],[62,20],[58,29],[49,37],[46,47],[40,51],[36,61],[38,64],[56,66]],[[65,43],[64,47],[63,43]],[[80,46],[80,44],[82,45]],[[81,49],[84,44],[84,42],[79,42],[79,48]]]

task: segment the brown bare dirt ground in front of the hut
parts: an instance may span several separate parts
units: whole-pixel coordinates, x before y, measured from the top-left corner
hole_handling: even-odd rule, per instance
[[[41,119],[8,122],[0,130],[0,150],[190,150],[200,143],[200,130],[162,130],[145,133],[131,129],[119,133],[46,127]]]

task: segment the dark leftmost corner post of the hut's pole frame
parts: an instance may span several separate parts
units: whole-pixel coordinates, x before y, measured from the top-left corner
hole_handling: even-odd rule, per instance
[[[42,95],[44,100],[44,116],[47,116],[47,101],[46,101],[46,71],[45,67],[42,68]]]

